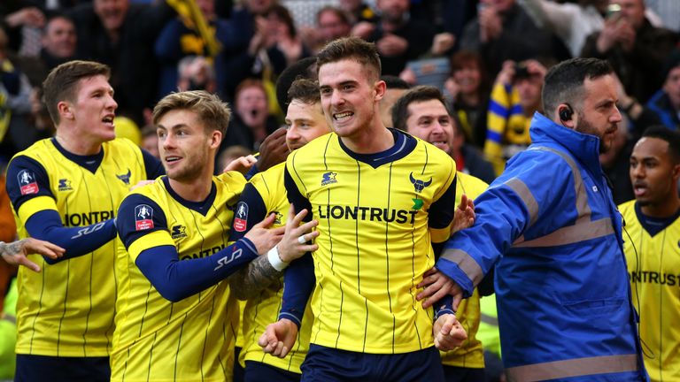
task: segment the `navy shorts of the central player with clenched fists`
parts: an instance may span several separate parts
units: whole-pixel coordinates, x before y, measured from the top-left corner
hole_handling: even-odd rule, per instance
[[[311,344],[302,382],[444,382],[437,348],[403,354],[367,354]]]

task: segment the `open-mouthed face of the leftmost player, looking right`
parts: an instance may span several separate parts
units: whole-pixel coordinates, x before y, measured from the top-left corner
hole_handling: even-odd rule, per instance
[[[70,109],[78,135],[99,142],[112,141],[116,137],[113,126],[116,108],[118,103],[113,100],[113,88],[106,77],[97,75],[80,80]]]

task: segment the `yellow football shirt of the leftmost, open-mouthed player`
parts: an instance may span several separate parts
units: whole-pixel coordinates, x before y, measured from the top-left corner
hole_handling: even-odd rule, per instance
[[[15,210],[19,238],[28,236],[24,222],[36,212],[57,210],[65,226],[92,225],[114,217],[129,188],[147,179],[142,151],[131,141],[103,144],[96,172],[73,162],[55,142],[37,141],[12,161],[42,166],[50,195],[37,195]],[[37,186],[33,191],[38,191]],[[118,275],[113,271],[114,241],[93,252],[58,264],[31,256],[41,273],[19,267],[17,347],[19,354],[107,356],[113,333]]]

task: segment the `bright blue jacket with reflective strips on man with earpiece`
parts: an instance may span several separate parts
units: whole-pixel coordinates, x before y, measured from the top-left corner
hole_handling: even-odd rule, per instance
[[[466,292],[496,264],[510,380],[646,380],[599,138],[536,114],[529,149],[475,201],[437,269]]]

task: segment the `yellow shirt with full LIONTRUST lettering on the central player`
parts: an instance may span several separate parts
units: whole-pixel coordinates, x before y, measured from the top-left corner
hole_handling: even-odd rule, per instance
[[[299,195],[319,220],[314,344],[375,354],[433,346],[432,309],[415,299],[416,286],[435,263],[431,242],[449,237],[456,166],[391,131],[395,145],[383,153],[352,153],[327,134],[287,159],[289,199]]]

